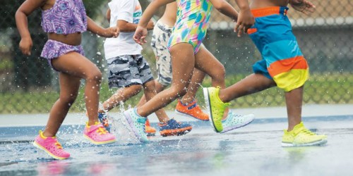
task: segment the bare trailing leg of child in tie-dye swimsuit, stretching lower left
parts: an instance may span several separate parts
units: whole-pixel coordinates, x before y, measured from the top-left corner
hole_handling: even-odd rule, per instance
[[[195,63],[193,47],[188,43],[176,44],[170,49],[170,54],[172,56],[173,68],[172,86],[160,92],[145,103],[145,105],[138,108],[138,114],[143,117],[147,117],[158,109],[167,106],[178,97],[186,94],[186,89],[189,87]]]

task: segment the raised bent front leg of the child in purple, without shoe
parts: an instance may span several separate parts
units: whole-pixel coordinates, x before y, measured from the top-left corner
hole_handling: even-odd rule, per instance
[[[98,122],[97,112],[100,99],[100,83],[102,73],[97,66],[88,58],[76,52],[64,54],[52,60],[56,70],[85,79],[85,105],[88,112],[88,125],[95,125]]]

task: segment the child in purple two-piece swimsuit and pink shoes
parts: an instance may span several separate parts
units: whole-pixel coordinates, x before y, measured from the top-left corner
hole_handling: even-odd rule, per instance
[[[115,142],[115,137],[104,129],[97,117],[102,73],[83,56],[80,42],[81,33],[86,30],[102,37],[117,37],[118,30],[116,27],[104,29],[93,22],[86,15],[81,0],[27,0],[16,12],[20,50],[25,55],[30,55],[32,48],[27,16],[37,8],[42,9],[42,27],[48,33],[41,56],[47,58],[49,65],[59,72],[60,97],[50,110],[44,132],[40,131],[35,138],[34,146],[56,159],[70,157],[55,135],[78,95],[81,79],[85,79],[85,105],[88,111],[84,137],[93,144]]]

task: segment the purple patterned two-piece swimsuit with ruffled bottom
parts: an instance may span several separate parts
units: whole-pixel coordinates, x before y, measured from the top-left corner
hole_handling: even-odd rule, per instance
[[[47,33],[73,34],[85,32],[87,30],[87,17],[82,0],[56,0],[52,8],[42,11],[42,27],[44,32]],[[47,58],[49,65],[52,66],[53,58],[58,58],[71,51],[84,54],[80,45],[72,46],[49,39],[45,43],[40,56]]]

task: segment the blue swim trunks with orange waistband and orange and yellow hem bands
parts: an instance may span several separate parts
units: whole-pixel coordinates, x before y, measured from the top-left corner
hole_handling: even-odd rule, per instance
[[[301,87],[309,78],[309,65],[294,37],[287,11],[283,6],[252,9],[256,22],[248,30],[262,56],[253,65],[253,72],[273,79],[285,92]]]

